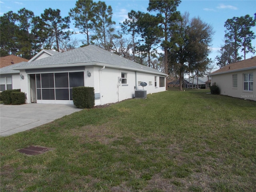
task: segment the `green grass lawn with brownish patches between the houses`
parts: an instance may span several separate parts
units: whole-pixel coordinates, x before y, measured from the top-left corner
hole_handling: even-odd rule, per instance
[[[254,192],[256,102],[166,91],[1,137],[1,192]],[[27,156],[28,146],[54,148]]]

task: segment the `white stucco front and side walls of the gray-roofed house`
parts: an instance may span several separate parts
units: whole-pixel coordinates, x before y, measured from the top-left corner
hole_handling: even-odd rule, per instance
[[[54,73],[58,72],[68,71],[54,70]],[[87,72],[91,73],[90,77],[88,77]],[[24,80],[20,79],[21,91],[27,94],[27,98],[30,98],[30,74],[26,74],[25,70],[21,70],[20,73],[24,75]],[[37,73],[40,73],[40,70],[38,70]],[[127,84],[118,82],[118,77],[121,77],[121,73],[127,74]],[[31,74],[34,73],[32,72]],[[155,76],[157,76],[156,87]],[[103,68],[103,66],[85,66],[84,68],[84,86],[94,87],[94,92],[100,95],[100,98],[95,100],[96,106],[132,98],[136,84],[137,90],[143,89],[142,86],[138,86],[138,82],[140,81],[144,81],[148,84],[144,87],[144,90],[147,90],[147,94],[166,90],[165,86],[159,87],[159,75],[134,72],[130,70],[120,70],[116,68]],[[149,82],[152,82],[152,85],[149,85]],[[27,102],[30,103],[30,99],[28,99]],[[38,100],[37,102],[48,104],[73,104],[73,101],[68,100]]]

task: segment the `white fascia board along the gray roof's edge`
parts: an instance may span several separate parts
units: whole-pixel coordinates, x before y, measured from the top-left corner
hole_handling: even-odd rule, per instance
[[[58,68],[58,67],[76,67],[76,66],[106,66],[108,68],[116,68],[116,69],[124,69],[124,70],[130,70],[130,71],[138,71],[143,73],[149,73],[149,74],[158,74],[161,76],[168,76],[167,74],[163,74],[162,72],[151,72],[146,71],[143,69],[135,69],[130,67],[122,67],[122,66],[115,66],[110,64],[104,64],[104,63],[96,63],[96,62],[90,62],[90,63],[75,63],[75,64],[58,64],[58,65],[43,65],[43,66],[21,66],[21,67],[14,67],[11,68],[12,70],[26,70],[26,69],[44,69],[44,68]]]

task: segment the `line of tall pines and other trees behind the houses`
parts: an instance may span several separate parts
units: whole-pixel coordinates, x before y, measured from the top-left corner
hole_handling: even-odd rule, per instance
[[[178,12],[180,3],[180,0],[150,0],[148,13],[131,10],[128,19],[120,23],[120,31],[114,27],[116,22],[112,20],[111,6],[101,1],[78,0],[64,18],[59,9],[46,9],[41,16],[34,16],[25,8],[18,13],[10,11],[0,18],[1,56],[14,54],[30,59],[43,48],[63,52],[78,47],[81,41],[82,46],[95,44],[140,64],[173,74],[180,78],[182,84],[184,74],[202,76],[211,68],[212,61],[208,55],[214,29],[199,17],[190,18],[189,13]],[[72,39],[71,20],[79,33],[84,34],[83,40]],[[255,25],[255,19],[252,22]],[[248,30],[252,26],[248,26]],[[247,29],[241,27],[241,31],[242,28]],[[226,46],[233,47],[231,33],[232,30],[227,28],[224,51],[228,50]],[[253,33],[250,38],[255,38]],[[248,46],[250,40],[246,38],[244,42],[244,50],[252,51],[253,48]],[[224,54],[219,57],[219,62],[223,57]]]

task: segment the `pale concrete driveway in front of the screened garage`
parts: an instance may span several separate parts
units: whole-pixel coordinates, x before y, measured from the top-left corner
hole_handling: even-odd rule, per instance
[[[29,130],[80,110],[74,105],[0,104],[0,136]]]

